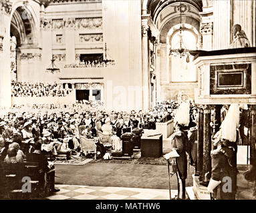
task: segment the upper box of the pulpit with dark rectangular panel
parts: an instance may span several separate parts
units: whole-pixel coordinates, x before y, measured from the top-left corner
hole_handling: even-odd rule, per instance
[[[255,47],[198,51],[194,63],[199,76],[195,103],[256,103]]]

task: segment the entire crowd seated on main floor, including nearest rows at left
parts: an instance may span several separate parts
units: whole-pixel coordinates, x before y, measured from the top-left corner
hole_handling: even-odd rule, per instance
[[[68,106],[15,106],[0,114],[0,161],[33,159],[40,162],[44,172],[49,172],[51,164],[45,156],[66,154],[67,158],[72,158],[81,152],[80,136],[95,139],[99,138],[99,132],[108,136],[115,150],[122,150],[122,134],[134,128],[156,128],[156,122],[173,118],[177,104],[172,101],[161,103],[152,110],[131,112],[103,110],[99,101]],[[192,111],[195,110],[192,108]],[[80,126],[85,127],[83,131]],[[41,157],[37,158],[37,154]],[[54,174],[48,175],[54,183]],[[54,184],[51,190],[55,192]]]

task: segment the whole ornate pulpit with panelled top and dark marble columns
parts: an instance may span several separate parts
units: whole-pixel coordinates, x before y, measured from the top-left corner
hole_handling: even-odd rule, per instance
[[[197,172],[193,176],[193,190],[198,199],[210,199],[207,184],[211,178],[211,109],[220,113],[220,106],[233,103],[250,108],[250,159],[256,158],[256,48],[197,51],[194,63],[198,72],[195,103],[199,108]],[[219,116],[220,117],[220,116]],[[219,120],[220,125],[221,122]]]

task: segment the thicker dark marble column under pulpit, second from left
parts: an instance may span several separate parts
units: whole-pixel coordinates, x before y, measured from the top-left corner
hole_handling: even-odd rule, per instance
[[[203,182],[209,182],[211,178],[211,108],[205,105],[203,108]]]

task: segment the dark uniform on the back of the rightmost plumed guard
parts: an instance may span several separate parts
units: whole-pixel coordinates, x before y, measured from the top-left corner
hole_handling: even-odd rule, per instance
[[[234,151],[227,146],[217,148],[211,152],[211,158],[211,179],[221,181],[219,186],[213,190],[213,198],[216,200],[235,200],[235,194],[237,192],[237,168],[235,166]],[[229,188],[228,180],[231,180],[231,188]]]

